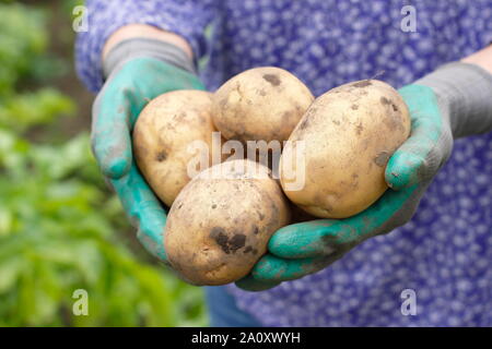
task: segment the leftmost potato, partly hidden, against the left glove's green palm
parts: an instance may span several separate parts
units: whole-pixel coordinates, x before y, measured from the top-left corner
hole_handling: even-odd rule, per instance
[[[188,164],[197,156],[188,149],[191,142],[202,141],[212,148],[212,132],[216,130],[211,96],[196,89],[165,93],[143,108],[134,125],[137,165],[155,194],[168,206],[190,180]],[[210,165],[204,163],[201,169]]]

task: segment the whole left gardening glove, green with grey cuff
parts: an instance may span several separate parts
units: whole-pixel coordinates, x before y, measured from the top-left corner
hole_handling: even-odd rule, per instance
[[[107,80],[92,115],[92,148],[97,164],[138,229],[144,248],[166,262],[166,212],[140,174],[131,152],[131,131],[151,99],[175,89],[203,89],[194,62],[174,45],[148,38],[119,43],[103,62]]]

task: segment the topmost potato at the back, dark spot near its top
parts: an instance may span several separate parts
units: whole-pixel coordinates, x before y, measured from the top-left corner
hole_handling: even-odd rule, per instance
[[[309,89],[290,72],[254,68],[213,94],[213,122],[227,140],[283,142],[313,100]]]

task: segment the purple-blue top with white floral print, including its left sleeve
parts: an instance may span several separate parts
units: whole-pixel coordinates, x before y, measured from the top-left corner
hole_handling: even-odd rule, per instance
[[[415,10],[417,32],[401,31]],[[492,41],[492,1],[89,0],[77,65],[102,85],[101,50],[129,23],[184,36],[207,61],[213,91],[258,65],[293,72],[315,95],[377,76],[401,87]],[[207,35],[206,35],[207,33]],[[492,134],[454,153],[410,222],[365,241],[328,268],[258,293],[227,286],[236,304],[272,326],[492,326]],[[417,296],[402,315],[401,292]]]

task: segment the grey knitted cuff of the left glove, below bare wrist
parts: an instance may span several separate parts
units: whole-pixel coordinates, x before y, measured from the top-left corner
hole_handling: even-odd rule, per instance
[[[103,61],[104,77],[119,70],[126,62],[142,57],[155,58],[197,74],[194,61],[179,47],[157,39],[137,37],[122,40],[109,50]]]

